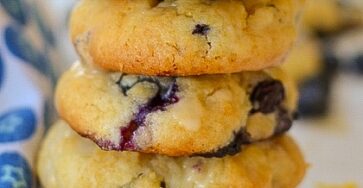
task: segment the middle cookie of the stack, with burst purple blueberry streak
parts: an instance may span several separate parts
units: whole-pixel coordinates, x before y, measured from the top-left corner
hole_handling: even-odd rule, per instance
[[[297,93],[277,68],[155,77],[76,63],[55,98],[60,116],[102,149],[224,156],[288,130]]]

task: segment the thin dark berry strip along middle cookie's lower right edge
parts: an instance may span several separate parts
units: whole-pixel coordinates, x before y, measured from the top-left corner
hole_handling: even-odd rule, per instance
[[[224,157],[226,155],[235,155],[241,151],[241,147],[243,144],[249,144],[250,143],[250,135],[246,132],[244,128],[242,128],[240,131],[238,131],[232,142],[230,142],[228,145],[218,149],[217,151],[210,152],[210,153],[202,153],[197,154],[197,156],[202,157]]]

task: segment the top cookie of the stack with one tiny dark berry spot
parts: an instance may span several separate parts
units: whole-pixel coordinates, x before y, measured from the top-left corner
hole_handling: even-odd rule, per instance
[[[129,74],[261,70],[295,39],[301,0],[82,0],[71,17],[81,57]]]

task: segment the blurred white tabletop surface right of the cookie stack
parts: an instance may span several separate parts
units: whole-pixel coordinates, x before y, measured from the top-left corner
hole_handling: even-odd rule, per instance
[[[337,75],[331,102],[327,117],[299,120],[290,132],[310,164],[300,187],[363,187],[363,74]]]

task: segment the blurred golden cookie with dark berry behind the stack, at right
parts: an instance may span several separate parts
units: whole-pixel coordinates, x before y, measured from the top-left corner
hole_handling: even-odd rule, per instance
[[[329,111],[330,91],[336,75],[337,59],[331,44],[303,37],[282,65],[299,86],[299,114],[317,117]]]

